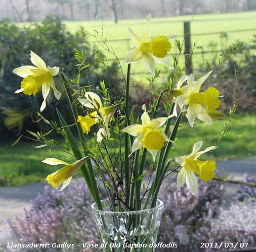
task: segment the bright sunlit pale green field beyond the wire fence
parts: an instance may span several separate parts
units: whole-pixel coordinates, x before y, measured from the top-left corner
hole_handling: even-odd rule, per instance
[[[145,17],[146,18],[146,17]],[[193,20],[193,21],[192,21]],[[180,17],[169,17],[169,18],[153,18],[150,25],[150,35],[157,36],[159,34],[170,36],[172,38],[178,38],[183,40],[184,21],[192,21],[191,34],[192,43],[196,43],[194,52],[201,52],[202,50],[212,50],[209,48],[209,42],[216,42],[216,49],[223,49],[228,47],[236,40],[242,40],[249,42],[256,34],[256,12],[244,12],[244,13],[231,13],[231,14],[209,14],[209,15],[195,15],[195,16],[180,16]],[[65,21],[67,29],[71,32],[75,32],[78,27],[82,26],[84,29],[89,31],[91,35],[95,34],[95,30],[101,32],[103,29],[104,37],[107,40],[113,39],[130,39],[131,34],[127,32],[127,27],[130,27],[135,33],[143,36],[145,28],[145,20],[119,20],[118,24],[114,24],[113,21]],[[24,24],[20,24],[24,25]],[[30,25],[30,24],[25,24]],[[246,29],[255,29],[255,31],[245,31]],[[220,38],[220,34],[206,34],[197,35],[201,33],[215,33],[215,32],[228,32],[234,30],[243,30],[234,33],[228,33],[228,39]],[[93,36],[89,37],[91,43],[95,42]],[[173,48],[170,53],[177,53],[174,39],[171,39]],[[121,59],[126,55],[129,48],[133,47],[133,43],[130,40],[124,41],[109,41],[108,44],[114,49],[118,58]],[[220,53],[218,53],[220,54]],[[109,54],[107,58],[112,58]],[[193,56],[194,69],[198,68],[199,64],[212,58],[212,54],[206,53],[204,56],[201,54],[195,54]],[[183,57],[182,60],[183,61]],[[123,66],[124,71],[126,69]],[[158,69],[162,69],[160,65]],[[132,66],[132,74],[146,72],[142,62]],[[145,81],[145,77],[136,75],[136,80]]]

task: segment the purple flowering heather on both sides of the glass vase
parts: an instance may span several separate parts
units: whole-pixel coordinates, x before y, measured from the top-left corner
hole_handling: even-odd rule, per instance
[[[248,175],[245,179],[256,184]],[[159,242],[177,242],[179,246],[173,251],[199,251],[201,242],[256,245],[256,189],[239,186],[231,206],[224,208],[225,187],[217,181],[200,181],[195,196],[186,186],[177,190],[174,179],[165,184],[160,192],[165,207]],[[9,221],[9,227],[20,242],[99,243],[91,213],[92,202],[84,183],[72,182],[65,192],[46,186],[44,194],[38,195],[32,208],[25,212],[25,218]]]

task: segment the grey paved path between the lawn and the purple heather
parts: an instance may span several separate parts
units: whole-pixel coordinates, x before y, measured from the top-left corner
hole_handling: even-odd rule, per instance
[[[251,176],[256,177],[256,158],[244,158],[231,161],[219,161],[218,169],[229,177],[243,180],[243,174],[248,172]],[[14,216],[23,217],[24,208],[29,209],[31,200],[33,200],[38,193],[44,191],[46,183],[34,183],[20,186],[6,186],[0,187],[0,241],[6,239],[3,230],[6,227],[6,219],[13,219]],[[227,192],[225,197],[231,197],[237,185],[227,185]]]

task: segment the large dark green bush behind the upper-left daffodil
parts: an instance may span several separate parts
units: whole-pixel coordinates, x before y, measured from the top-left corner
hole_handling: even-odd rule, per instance
[[[14,91],[20,88],[21,78],[12,73],[13,69],[22,65],[31,65],[30,50],[40,55],[47,65],[60,67],[60,70],[72,79],[77,75],[74,48],[86,51],[87,64],[90,65],[87,74],[81,77],[80,85],[99,85],[100,81],[105,80],[106,85],[111,85],[108,86],[110,91],[116,90],[114,86],[118,86],[117,64],[113,63],[107,67],[101,64],[100,58],[103,54],[99,51],[96,53],[96,48],[89,45],[88,34],[82,28],[70,33],[58,18],[52,17],[47,17],[43,22],[34,24],[29,28],[17,26],[9,20],[1,21],[0,109],[11,107],[17,110],[31,110],[31,99],[33,99],[33,103],[41,103],[41,92],[38,92],[36,97],[29,97],[23,93],[14,94]],[[58,82],[57,88],[62,89]],[[52,95],[49,95],[49,99],[52,98]],[[52,99],[51,104],[49,102],[48,104],[44,115],[55,113],[56,106],[68,111],[65,95],[62,96],[60,101]],[[0,137],[1,135],[6,137],[12,134],[4,127],[5,116],[0,113]],[[33,123],[29,116],[25,121],[24,128],[32,129],[35,127],[38,127],[38,124]]]

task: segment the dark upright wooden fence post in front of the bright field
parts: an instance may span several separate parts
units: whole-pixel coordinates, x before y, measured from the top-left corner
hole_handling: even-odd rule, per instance
[[[191,53],[191,33],[190,22],[184,22],[184,39],[185,39],[185,59],[186,59],[186,74],[190,75],[193,72],[192,55]]]

